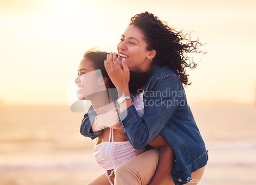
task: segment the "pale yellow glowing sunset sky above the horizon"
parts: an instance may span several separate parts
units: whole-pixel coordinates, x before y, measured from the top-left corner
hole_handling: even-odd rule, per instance
[[[0,104],[67,105],[83,54],[116,51],[137,13],[191,33],[206,55],[187,70],[188,102],[252,104],[256,96],[255,1],[0,0]]]

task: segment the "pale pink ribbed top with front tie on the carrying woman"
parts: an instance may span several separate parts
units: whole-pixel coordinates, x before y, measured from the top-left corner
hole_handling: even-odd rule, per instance
[[[112,141],[111,141],[112,135]],[[113,129],[110,128],[109,141],[102,142],[94,146],[94,156],[97,163],[104,168],[105,175],[109,177],[115,173],[115,170],[120,165],[124,164],[127,160],[130,160],[137,155],[145,151],[145,148],[134,149],[129,141],[125,142],[114,142]],[[111,174],[108,174],[108,170],[114,169]]]

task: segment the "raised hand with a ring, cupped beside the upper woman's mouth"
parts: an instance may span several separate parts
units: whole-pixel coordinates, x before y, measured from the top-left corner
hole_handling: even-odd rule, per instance
[[[106,72],[117,89],[128,87],[130,80],[130,71],[127,67],[125,58],[122,59],[123,69],[117,62],[116,53],[110,52],[104,61]]]

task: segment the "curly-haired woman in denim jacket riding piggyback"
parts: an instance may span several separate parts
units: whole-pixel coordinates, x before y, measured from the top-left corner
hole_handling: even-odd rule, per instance
[[[187,43],[183,43],[184,40]],[[117,45],[118,58],[115,53],[110,53],[105,61],[106,71],[119,89],[121,113],[117,117],[112,112],[102,114],[100,123],[105,121],[107,127],[121,126],[135,149],[145,147],[159,135],[164,138],[174,151],[175,161],[169,167],[171,174],[165,179],[158,179],[157,184],[161,181],[162,184],[196,183],[195,179],[202,177],[208,160],[182,85],[190,84],[185,68],[196,67],[194,62],[187,63],[186,53],[200,53],[198,44],[201,45],[198,41],[185,39],[181,32],[168,27],[153,14],[144,12],[131,18]],[[133,100],[143,100],[142,117],[136,111],[129,91],[130,71],[137,70],[151,74],[141,85],[143,96]],[[84,115],[81,134],[93,139],[102,131],[92,129],[95,120],[90,120],[88,114]],[[108,124],[108,120],[117,125]],[[159,158],[158,149],[148,150],[116,169],[115,184],[148,184],[157,164],[164,164],[164,160],[169,159]],[[100,178],[104,177],[100,176],[98,180]]]

